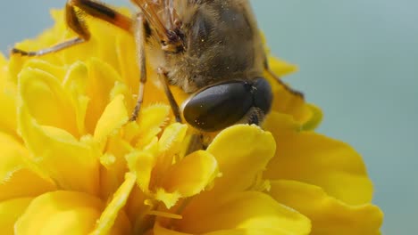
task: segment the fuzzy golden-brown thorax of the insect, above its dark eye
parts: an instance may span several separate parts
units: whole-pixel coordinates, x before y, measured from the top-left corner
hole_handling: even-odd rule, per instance
[[[171,85],[185,92],[229,79],[254,79],[263,75],[263,45],[246,0],[174,1],[183,46],[164,51],[155,30],[146,35],[146,60],[161,68]],[[159,12],[162,19],[164,10]],[[170,20],[163,20],[170,28]]]

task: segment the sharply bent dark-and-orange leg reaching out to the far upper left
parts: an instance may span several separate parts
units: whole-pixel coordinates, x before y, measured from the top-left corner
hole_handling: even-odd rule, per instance
[[[88,15],[107,21],[118,28],[125,29],[129,32],[131,31],[132,22],[130,18],[114,11],[104,4],[93,0],[69,0],[67,1],[67,4],[65,4],[65,20],[68,27],[71,28],[79,36],[43,50],[26,52],[18,48],[13,48],[11,53],[17,53],[23,56],[41,56],[48,53],[55,53],[73,45],[79,45],[87,42],[88,39],[90,39],[90,32],[88,31],[88,27],[83,22],[83,20],[80,19],[79,12],[77,12],[75,7],[78,7],[82,12],[85,12]]]

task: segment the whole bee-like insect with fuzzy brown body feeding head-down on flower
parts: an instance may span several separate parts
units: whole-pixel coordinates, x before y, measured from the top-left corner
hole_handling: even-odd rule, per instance
[[[268,66],[262,38],[247,0],[131,0],[138,11],[127,17],[101,2],[68,0],[66,23],[77,37],[36,52],[41,56],[87,42],[88,26],[79,13],[107,21],[136,38],[140,84],[130,120],[144,100],[146,62],[155,69],[177,121],[184,118],[203,132],[237,123],[259,125],[272,106],[272,87],[263,71],[280,81]],[[149,68],[148,68],[149,69]],[[170,85],[191,93],[181,106]],[[291,93],[302,95],[284,85]]]

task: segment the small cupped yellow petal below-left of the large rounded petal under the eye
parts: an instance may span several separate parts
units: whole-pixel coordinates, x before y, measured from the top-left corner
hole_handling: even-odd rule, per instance
[[[182,196],[190,197],[205,190],[216,174],[216,159],[212,154],[200,150],[171,166],[164,175],[162,186],[168,192],[178,191]]]

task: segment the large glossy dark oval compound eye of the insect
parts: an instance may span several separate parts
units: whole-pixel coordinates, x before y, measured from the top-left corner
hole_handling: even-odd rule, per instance
[[[253,85],[229,81],[194,94],[183,108],[183,117],[197,129],[213,132],[237,123],[254,105]]]

